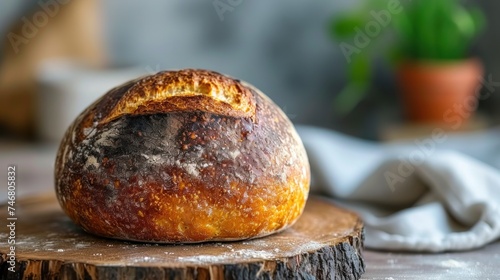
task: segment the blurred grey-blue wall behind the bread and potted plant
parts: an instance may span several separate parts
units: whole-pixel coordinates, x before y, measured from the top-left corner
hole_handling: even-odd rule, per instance
[[[75,1],[75,0],[74,0]],[[110,61],[147,71],[208,68],[253,83],[296,123],[315,124],[370,137],[382,114],[398,115],[390,75],[377,71],[382,92],[340,118],[332,100],[345,81],[346,60],[327,25],[332,16],[359,1],[232,0],[222,14],[218,1],[103,0],[104,35]],[[475,1],[488,14],[489,27],[474,53],[486,74],[500,81],[499,1]],[[37,3],[2,1],[0,32]],[[222,15],[222,17],[221,17]],[[500,90],[500,89],[499,89]],[[482,104],[500,119],[498,95]]]

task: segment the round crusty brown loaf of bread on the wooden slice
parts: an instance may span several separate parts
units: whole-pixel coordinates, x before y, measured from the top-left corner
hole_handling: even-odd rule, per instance
[[[118,86],[73,122],[56,193],[87,232],[145,242],[241,240],[292,225],[307,156],[285,114],[255,87],[207,70]]]

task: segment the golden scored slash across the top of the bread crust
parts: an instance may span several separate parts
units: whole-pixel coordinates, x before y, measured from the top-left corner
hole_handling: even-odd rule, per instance
[[[186,110],[252,117],[255,99],[239,81],[213,71],[163,71],[136,80],[101,123],[123,115]]]

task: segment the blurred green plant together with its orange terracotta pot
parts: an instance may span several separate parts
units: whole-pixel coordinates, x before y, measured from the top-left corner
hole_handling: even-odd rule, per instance
[[[340,45],[344,55],[350,55],[346,55],[350,63],[349,83],[338,95],[337,109],[345,112],[363,98],[371,84],[373,58],[380,43],[389,41],[391,47],[383,49],[390,49],[395,58],[408,118],[441,123],[456,122],[457,117],[466,120],[475,109],[482,75],[481,62],[470,58],[468,51],[484,26],[483,14],[477,8],[464,7],[459,0],[416,0],[400,6],[394,2],[367,1],[352,14],[334,19],[332,32],[336,38],[354,38],[353,44],[345,45],[344,41]],[[377,30],[378,34],[374,32]],[[392,37],[383,37],[388,33]],[[358,43],[362,36],[364,42],[366,38],[371,41],[361,49],[356,47],[356,36]],[[355,49],[349,49],[352,46]]]

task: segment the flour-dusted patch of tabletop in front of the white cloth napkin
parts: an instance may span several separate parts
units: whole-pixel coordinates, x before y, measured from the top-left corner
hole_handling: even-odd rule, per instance
[[[361,279],[500,279],[500,241],[467,252],[415,254],[363,253],[366,272]]]

